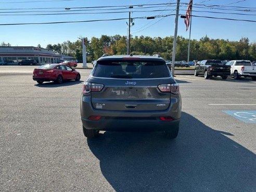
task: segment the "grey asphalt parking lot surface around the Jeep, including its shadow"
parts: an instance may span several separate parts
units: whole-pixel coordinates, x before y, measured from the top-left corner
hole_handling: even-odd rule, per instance
[[[180,133],[82,133],[81,81],[0,68],[0,191],[255,191],[256,81],[176,75]]]

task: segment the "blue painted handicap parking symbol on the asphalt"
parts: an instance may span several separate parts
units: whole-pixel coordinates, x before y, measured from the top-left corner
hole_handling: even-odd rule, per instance
[[[256,123],[256,111],[246,110],[246,111],[223,111],[234,118],[243,121],[245,123]]]

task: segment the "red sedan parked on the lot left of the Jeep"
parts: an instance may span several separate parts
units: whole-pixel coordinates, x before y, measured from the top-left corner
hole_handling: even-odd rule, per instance
[[[47,64],[33,71],[33,80],[42,84],[44,81],[62,83],[65,80],[79,81],[80,73],[64,64]]]

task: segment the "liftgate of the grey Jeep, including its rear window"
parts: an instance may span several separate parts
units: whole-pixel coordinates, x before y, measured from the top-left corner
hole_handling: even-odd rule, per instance
[[[161,111],[171,102],[170,92],[159,86],[175,83],[165,61],[104,60],[97,61],[92,86],[103,86],[91,92],[95,109],[113,111]],[[97,90],[97,89],[96,89]]]

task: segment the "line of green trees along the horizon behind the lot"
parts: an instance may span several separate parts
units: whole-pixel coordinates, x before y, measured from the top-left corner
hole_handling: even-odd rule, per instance
[[[101,35],[88,40],[85,37],[87,61],[98,59],[103,54],[125,55],[127,53],[127,38],[121,35]],[[4,42],[3,42],[4,43]],[[2,44],[3,44],[2,43]],[[9,45],[9,44],[5,44]],[[2,45],[1,45],[2,46]],[[39,45],[40,46],[40,45]],[[56,54],[64,54],[82,60],[82,40],[66,41],[58,44],[48,44]],[[134,36],[130,39],[130,52],[133,55],[159,54],[165,60],[172,60],[173,36],[150,37]],[[175,60],[187,60],[188,39],[177,36]],[[200,40],[190,40],[190,59],[220,59],[220,60],[256,60],[256,43],[249,43],[247,37],[239,41],[210,39],[207,35]]]

